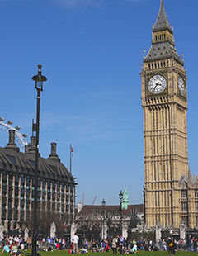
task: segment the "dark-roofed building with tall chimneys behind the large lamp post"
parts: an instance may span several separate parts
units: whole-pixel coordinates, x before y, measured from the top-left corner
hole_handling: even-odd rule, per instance
[[[48,159],[39,158],[38,215],[54,212],[65,225],[74,219],[75,178],[51,144]],[[25,153],[15,143],[15,130],[9,130],[9,142],[0,147],[0,221],[4,230],[31,228],[35,200],[35,137]]]

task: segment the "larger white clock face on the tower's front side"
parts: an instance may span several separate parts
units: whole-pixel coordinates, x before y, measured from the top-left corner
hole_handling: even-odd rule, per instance
[[[167,87],[167,80],[162,75],[154,75],[148,83],[148,90],[154,94],[161,93]]]

